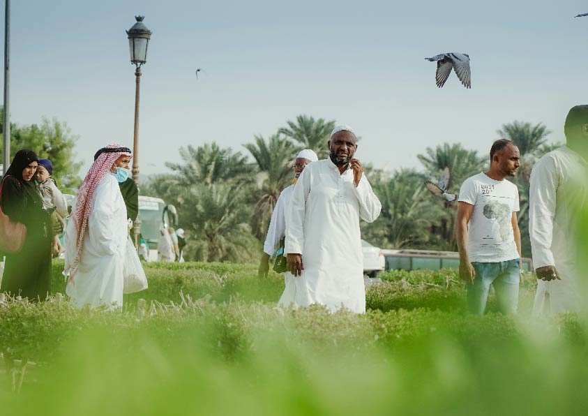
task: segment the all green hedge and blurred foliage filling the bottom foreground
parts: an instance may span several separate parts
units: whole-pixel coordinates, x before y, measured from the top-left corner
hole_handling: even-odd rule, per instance
[[[453,271],[386,272],[368,313],[276,306],[254,266],[151,264],[123,311],[0,299],[0,415],[584,415],[588,319],[465,313]],[[14,360],[14,361],[13,361]],[[10,364],[14,362],[14,364]],[[8,363],[8,364],[7,364]],[[14,367],[10,367],[14,365]],[[12,392],[17,387],[20,392]]]

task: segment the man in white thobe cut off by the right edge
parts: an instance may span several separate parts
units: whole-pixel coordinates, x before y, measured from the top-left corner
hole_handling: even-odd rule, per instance
[[[588,276],[580,267],[577,243],[580,216],[588,209],[588,105],[570,110],[564,132],[566,146],[539,159],[531,173],[529,235],[538,279],[535,315],[585,309],[583,285]]]

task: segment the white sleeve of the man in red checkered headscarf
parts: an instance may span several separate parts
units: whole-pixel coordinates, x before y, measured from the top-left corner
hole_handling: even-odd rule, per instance
[[[96,188],[93,209],[88,221],[88,235],[94,255],[114,255],[123,253],[120,232],[116,232],[114,211],[116,210],[116,192],[120,193],[116,183],[103,184]],[[119,198],[122,201],[122,198]]]

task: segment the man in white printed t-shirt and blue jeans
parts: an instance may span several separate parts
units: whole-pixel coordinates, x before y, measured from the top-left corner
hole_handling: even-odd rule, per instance
[[[518,189],[506,177],[520,167],[518,147],[497,140],[490,149],[490,170],[464,181],[460,189],[455,236],[460,278],[467,284],[470,312],[483,314],[490,285],[502,313],[515,313],[520,279]]]

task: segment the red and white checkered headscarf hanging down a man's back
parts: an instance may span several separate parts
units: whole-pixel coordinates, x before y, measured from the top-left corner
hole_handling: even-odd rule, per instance
[[[119,144],[109,144],[105,149],[117,149],[121,146]],[[89,172],[84,178],[84,183],[80,187],[80,191],[77,191],[77,199],[75,207],[72,209],[69,221],[73,221],[75,227],[76,243],[75,251],[73,253],[73,260],[68,261],[66,265],[65,274],[69,275],[69,281],[72,280],[77,265],[80,264],[82,257],[82,248],[84,246],[84,236],[88,229],[88,218],[90,216],[92,197],[100,181],[111,172],[112,166],[116,159],[121,156],[129,156],[130,153],[126,151],[114,151],[105,152],[100,154],[98,158],[92,163]]]

